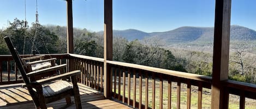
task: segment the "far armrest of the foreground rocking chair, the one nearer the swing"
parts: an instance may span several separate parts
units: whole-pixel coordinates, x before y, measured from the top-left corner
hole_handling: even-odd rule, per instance
[[[65,67],[66,67],[66,64],[49,67],[49,68],[44,68],[44,69],[36,70],[33,72],[29,72],[29,73],[27,73],[27,76],[34,76],[34,75],[38,75],[38,74],[42,74],[42,73],[47,73],[47,72],[51,72],[53,70],[57,70],[57,69],[65,68]]]

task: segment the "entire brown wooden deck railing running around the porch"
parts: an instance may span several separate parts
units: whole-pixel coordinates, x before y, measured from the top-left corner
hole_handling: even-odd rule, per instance
[[[69,61],[69,70],[80,69],[79,82],[103,92],[104,59],[76,54],[51,54],[58,63]],[[111,66],[112,98],[135,108],[183,108],[182,92],[186,92],[186,107],[191,107],[192,93],[197,93],[197,107],[202,108],[203,88],[211,93],[211,77],[132,63],[106,61]],[[19,72],[11,55],[0,55],[0,85],[20,83]],[[256,99],[256,85],[238,81],[222,81],[227,94],[240,96],[240,108],[245,98]],[[185,88],[184,88],[185,87]],[[186,90],[186,91],[184,91]],[[174,92],[175,91],[175,92]],[[175,96],[173,96],[175,94]],[[176,99],[172,102],[172,99]],[[211,102],[211,101],[207,101]],[[186,108],[184,107],[184,108]]]

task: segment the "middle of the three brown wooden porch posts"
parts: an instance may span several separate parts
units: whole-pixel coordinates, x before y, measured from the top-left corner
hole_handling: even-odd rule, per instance
[[[106,60],[112,60],[112,0],[104,0],[104,97],[111,98],[111,66]]]

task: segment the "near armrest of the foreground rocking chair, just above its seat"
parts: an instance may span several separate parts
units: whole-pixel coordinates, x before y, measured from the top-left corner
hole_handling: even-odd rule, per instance
[[[59,79],[67,78],[70,76],[76,76],[76,75],[79,75],[80,73],[81,73],[80,70],[74,70],[72,72],[64,73],[64,74],[57,75],[57,76],[52,76],[50,78],[33,81],[33,82],[31,82],[31,84],[41,84],[42,85],[42,84],[45,84],[47,82],[51,82],[54,80],[59,80]]]

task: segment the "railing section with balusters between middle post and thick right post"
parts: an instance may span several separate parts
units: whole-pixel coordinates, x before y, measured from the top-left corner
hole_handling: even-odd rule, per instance
[[[114,83],[113,97],[134,108],[163,108],[163,106],[165,108],[181,108],[181,87],[184,84],[187,86],[187,108],[190,108],[192,85],[198,87],[197,104],[198,108],[201,108],[202,89],[211,88],[211,77],[209,76],[176,72],[132,63],[115,61],[107,61],[107,63],[112,66],[111,70],[114,76],[114,80],[112,80]],[[175,84],[176,87],[176,106],[171,106],[171,99],[173,99],[171,97],[173,92],[171,91],[172,84]],[[181,86],[181,84],[183,85]],[[168,94],[165,98],[163,98],[164,93]],[[152,94],[151,98],[149,94]],[[163,105],[164,101],[167,101],[167,105]]]

